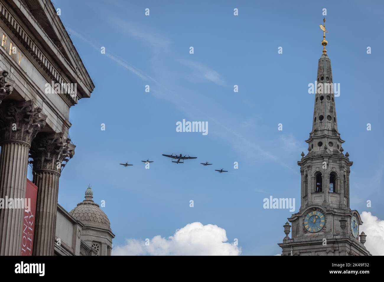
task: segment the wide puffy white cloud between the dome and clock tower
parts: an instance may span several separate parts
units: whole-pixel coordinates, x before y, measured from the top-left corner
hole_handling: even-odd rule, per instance
[[[217,225],[189,223],[173,236],[157,235],[149,241],[127,239],[125,246],[113,246],[113,256],[238,256],[241,247],[230,244],[225,229]]]

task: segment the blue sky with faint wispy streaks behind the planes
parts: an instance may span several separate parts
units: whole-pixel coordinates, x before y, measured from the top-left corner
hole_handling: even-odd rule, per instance
[[[297,161],[312,128],[308,83],[321,56],[323,8],[333,80],[341,85],[338,129],[354,162],[351,208],[384,219],[381,2],[54,5],[95,84],[91,98],[70,110],[77,147],[60,178],[59,203],[71,210],[90,183],[94,200],[106,201],[114,245],[168,237],[198,221],[225,229],[228,242],[237,238],[243,255],[281,252],[277,243],[291,212],[263,209],[263,199],[296,198],[296,211],[300,206]],[[176,132],[182,119],[207,121],[209,134]],[[170,153],[198,158],[176,165],[162,156]],[[149,170],[140,162],[147,158],[154,161]],[[134,166],[119,165],[126,161]],[[214,165],[199,164],[205,161]],[[220,168],[229,172],[214,172]]]

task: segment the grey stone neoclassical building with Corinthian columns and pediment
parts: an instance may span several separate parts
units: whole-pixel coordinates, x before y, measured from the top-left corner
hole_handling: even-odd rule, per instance
[[[109,221],[102,227],[110,242],[99,239],[97,253],[89,235],[96,227],[58,205],[61,171],[75,152],[70,107],[89,98],[94,84],[51,1],[0,0],[0,40],[0,198],[25,198],[30,164],[37,186],[33,255],[110,254]],[[0,256],[20,255],[23,216],[23,209],[0,208]]]

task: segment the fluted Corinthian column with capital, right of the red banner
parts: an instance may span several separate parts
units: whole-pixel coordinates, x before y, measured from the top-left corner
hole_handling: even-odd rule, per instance
[[[33,183],[38,187],[36,200],[34,256],[53,256],[55,244],[57,195],[62,162],[74,155],[74,145],[62,133],[39,133],[32,141]]]

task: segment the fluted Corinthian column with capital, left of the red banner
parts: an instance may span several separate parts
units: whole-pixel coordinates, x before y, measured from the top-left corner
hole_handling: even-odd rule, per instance
[[[0,105],[0,198],[25,198],[28,151],[46,117],[33,101]],[[23,216],[24,208],[0,209],[0,256],[20,255]]]

